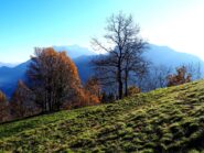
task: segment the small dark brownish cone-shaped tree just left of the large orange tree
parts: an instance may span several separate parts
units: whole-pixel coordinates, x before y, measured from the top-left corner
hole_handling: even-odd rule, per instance
[[[33,91],[22,80],[19,80],[18,87],[11,97],[10,109],[12,118],[29,117],[39,112],[34,103]]]

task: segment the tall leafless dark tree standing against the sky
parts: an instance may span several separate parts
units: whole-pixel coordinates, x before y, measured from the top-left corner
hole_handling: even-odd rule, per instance
[[[128,94],[128,80],[130,72],[142,67],[147,43],[139,36],[140,28],[133,23],[132,17],[126,17],[121,12],[111,15],[107,21],[107,34],[104,36],[108,46],[93,39],[95,50],[105,51],[108,54],[93,61],[99,79],[112,85],[117,83],[119,99],[124,96],[124,83],[126,95]]]

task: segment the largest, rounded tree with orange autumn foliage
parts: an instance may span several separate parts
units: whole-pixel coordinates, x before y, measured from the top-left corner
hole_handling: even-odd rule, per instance
[[[82,88],[73,61],[65,52],[58,53],[52,47],[35,48],[28,76],[43,112],[60,110],[65,102],[75,101]]]

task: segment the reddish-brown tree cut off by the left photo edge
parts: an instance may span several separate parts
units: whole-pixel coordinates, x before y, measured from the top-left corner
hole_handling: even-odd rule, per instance
[[[9,109],[6,95],[0,91],[0,122],[7,121],[9,118]]]

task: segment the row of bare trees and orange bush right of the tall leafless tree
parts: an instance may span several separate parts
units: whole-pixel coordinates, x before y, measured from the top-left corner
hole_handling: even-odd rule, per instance
[[[175,75],[180,77],[172,77]],[[191,81],[201,78],[202,68],[200,63],[181,64],[179,66],[151,64],[149,65],[146,74],[132,77],[132,83],[137,85],[142,91],[150,91],[157,88],[164,88],[170,85],[176,86],[184,84],[187,80]]]

